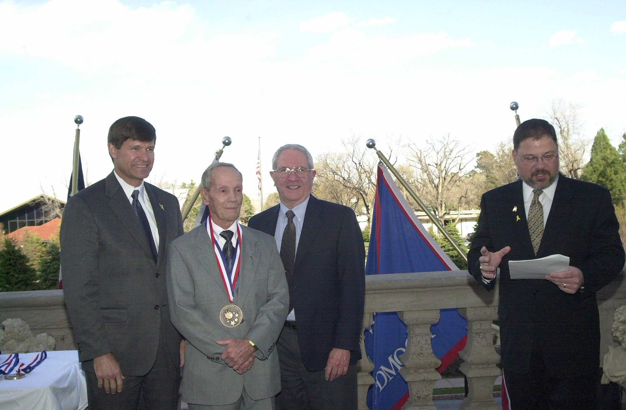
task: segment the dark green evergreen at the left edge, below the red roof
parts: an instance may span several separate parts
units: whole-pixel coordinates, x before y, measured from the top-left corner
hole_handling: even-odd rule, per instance
[[[14,241],[5,237],[0,251],[0,291],[33,291],[35,281],[36,273],[28,265],[28,258]]]

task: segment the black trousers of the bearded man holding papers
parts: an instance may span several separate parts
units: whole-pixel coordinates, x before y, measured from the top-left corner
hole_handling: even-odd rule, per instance
[[[530,371],[503,369],[510,410],[592,410],[596,408],[597,372],[568,377],[548,373],[541,352],[533,351]]]

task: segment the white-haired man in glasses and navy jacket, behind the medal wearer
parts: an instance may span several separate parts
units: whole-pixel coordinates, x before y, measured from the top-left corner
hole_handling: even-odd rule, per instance
[[[282,146],[272,166],[280,204],[253,216],[249,226],[274,236],[289,283],[289,316],[277,345],[277,409],[356,409],[361,229],[352,209],[311,195],[316,171],[303,146]]]

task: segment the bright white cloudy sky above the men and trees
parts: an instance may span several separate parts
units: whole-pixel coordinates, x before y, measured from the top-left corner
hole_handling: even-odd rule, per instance
[[[511,101],[523,120],[563,98],[617,143],[625,46],[623,1],[0,0],[0,211],[64,196],[76,114],[90,183],[136,115],[157,131],[150,181],[198,181],[230,136],[251,198],[259,138],[264,171],[282,144],[316,156],[352,134],[480,151],[511,137]]]

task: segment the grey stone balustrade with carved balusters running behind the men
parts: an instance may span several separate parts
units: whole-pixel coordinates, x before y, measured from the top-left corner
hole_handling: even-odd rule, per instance
[[[613,344],[613,312],[626,304],[623,273],[598,292],[601,354]],[[409,384],[409,398],[403,409],[435,410],[433,386],[441,378],[439,360],[430,344],[430,326],[439,321],[439,309],[456,308],[468,320],[468,339],[459,353],[460,370],[468,379],[468,396],[460,409],[498,410],[493,400],[493,383],[500,375],[500,356],[493,346],[491,323],[498,318],[498,288],[487,292],[467,271],[385,274],[366,277],[363,327],[372,323],[374,312],[397,311],[408,326],[406,351],[399,355],[399,370]],[[75,349],[74,337],[63,301],[63,291],[0,292],[0,321],[9,317],[24,319],[33,334],[47,332],[56,337],[57,349]],[[357,375],[359,410],[367,409],[367,390],[374,383],[374,366],[365,356]],[[376,376],[376,375],[375,375]],[[374,385],[372,388],[377,388]]]

